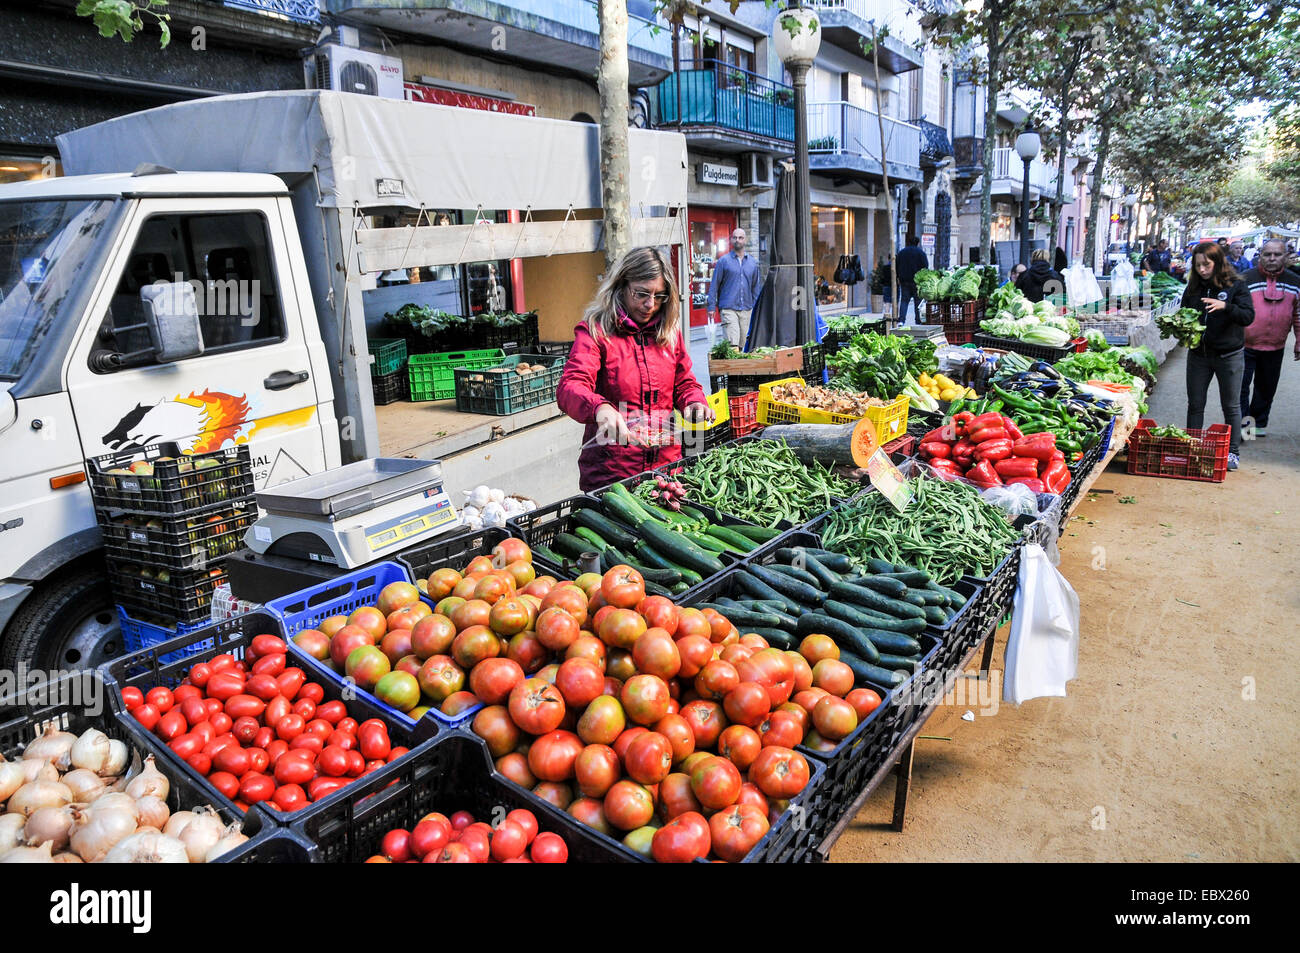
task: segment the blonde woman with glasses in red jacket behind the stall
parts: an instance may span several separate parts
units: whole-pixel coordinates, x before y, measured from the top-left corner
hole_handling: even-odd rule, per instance
[[[632,248],[611,269],[573,330],[555,395],[580,424],[577,458],[584,491],[681,458],[672,411],[690,421],[712,420],[705,390],[682,341],[677,286],[663,252]]]

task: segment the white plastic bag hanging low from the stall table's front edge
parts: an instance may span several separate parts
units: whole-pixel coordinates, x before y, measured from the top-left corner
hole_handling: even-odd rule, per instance
[[[1002,701],[1065,697],[1079,668],[1079,597],[1041,546],[1020,550]]]

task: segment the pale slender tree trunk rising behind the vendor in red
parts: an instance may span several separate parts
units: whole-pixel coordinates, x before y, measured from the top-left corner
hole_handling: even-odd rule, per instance
[[[628,250],[632,191],[628,165],[628,8],[623,0],[599,0],[601,202],[604,205],[604,268]]]

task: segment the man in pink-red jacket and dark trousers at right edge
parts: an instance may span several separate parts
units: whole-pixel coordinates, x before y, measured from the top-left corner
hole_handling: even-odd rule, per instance
[[[1300,278],[1286,269],[1286,243],[1270,238],[1260,250],[1260,264],[1242,277],[1251,289],[1254,307],[1254,321],[1245,329],[1242,420],[1254,425],[1256,437],[1268,436],[1269,411],[1292,329],[1296,333],[1295,360],[1300,360]]]

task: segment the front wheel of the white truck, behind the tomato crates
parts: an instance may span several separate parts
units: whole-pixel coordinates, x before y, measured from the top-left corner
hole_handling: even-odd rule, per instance
[[[0,668],[96,668],[125,651],[103,568],[68,567],[18,607],[0,645]]]

